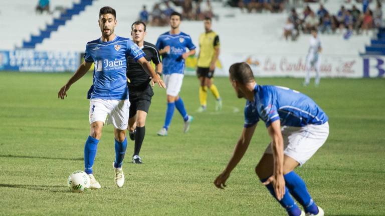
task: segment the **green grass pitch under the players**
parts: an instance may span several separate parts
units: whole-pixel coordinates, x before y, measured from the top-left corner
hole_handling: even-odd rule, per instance
[[[144,164],[131,163],[129,140],[123,170],[114,184],[113,126],[104,127],[94,164],[102,188],[72,193],[68,175],[83,169],[89,133],[86,99],[91,73],[57,98],[71,73],[0,72],[0,215],[285,215],[259,182],[254,167],[269,142],[257,126],[244,158],[225,190],[213,181],[227,164],[243,127],[244,99],[227,77],[215,78],[224,101],[215,111],[197,113],[198,80],[184,77],[180,95],[194,116],[190,131],[175,110],[168,136],[163,125],[165,90],[154,87],[141,150]],[[257,78],[312,97],[328,114],[330,135],[302,167],[313,199],[326,215],[385,215],[385,79],[322,79],[303,87],[302,79]]]

